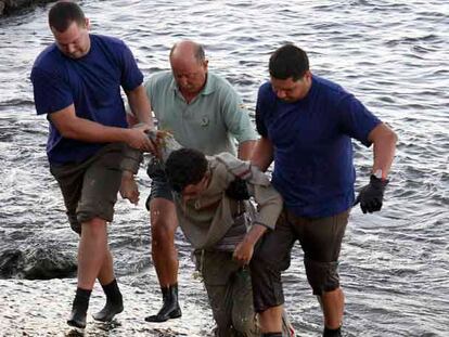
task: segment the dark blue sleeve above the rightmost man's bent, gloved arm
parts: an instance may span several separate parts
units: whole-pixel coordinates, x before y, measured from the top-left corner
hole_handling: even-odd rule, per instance
[[[382,121],[351,94],[339,102],[338,112],[343,131],[363,145],[370,146],[368,137]]]

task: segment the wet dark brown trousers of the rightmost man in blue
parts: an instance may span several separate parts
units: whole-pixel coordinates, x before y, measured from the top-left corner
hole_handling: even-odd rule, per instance
[[[281,272],[290,267],[291,250],[299,241],[307,280],[315,295],[339,287],[337,273],[342,239],[349,210],[326,218],[300,218],[284,209],[275,230],[257,247],[252,262],[254,303],[257,312],[284,302]]]

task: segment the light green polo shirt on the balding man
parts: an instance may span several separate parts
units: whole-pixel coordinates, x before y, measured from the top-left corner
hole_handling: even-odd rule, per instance
[[[172,132],[184,147],[206,155],[228,152],[236,155],[239,143],[257,140],[257,133],[242,99],[231,85],[207,73],[206,86],[189,104],[180,93],[171,72],[153,75],[145,82],[159,130]]]

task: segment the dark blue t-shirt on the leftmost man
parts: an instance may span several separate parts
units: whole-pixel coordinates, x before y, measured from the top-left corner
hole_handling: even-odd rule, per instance
[[[136,60],[120,40],[90,35],[90,50],[80,59],[65,56],[55,44],[36,59],[31,70],[38,115],[74,104],[76,115],[104,126],[126,128],[120,86],[129,91],[143,81]],[[51,164],[80,163],[105,144],[65,139],[50,118],[47,154]]]

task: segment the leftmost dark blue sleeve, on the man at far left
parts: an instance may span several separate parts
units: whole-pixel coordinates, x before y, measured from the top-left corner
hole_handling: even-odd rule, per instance
[[[67,83],[54,74],[34,67],[31,82],[38,115],[55,113],[74,103]]]

